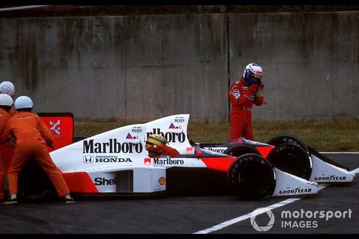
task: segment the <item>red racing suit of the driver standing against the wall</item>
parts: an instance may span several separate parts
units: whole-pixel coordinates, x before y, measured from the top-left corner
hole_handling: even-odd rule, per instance
[[[252,130],[252,106],[260,106],[264,102],[264,96],[255,96],[258,85],[248,86],[243,78],[233,82],[229,88],[229,100],[231,102],[231,114],[229,118],[229,141],[245,137],[254,140]]]

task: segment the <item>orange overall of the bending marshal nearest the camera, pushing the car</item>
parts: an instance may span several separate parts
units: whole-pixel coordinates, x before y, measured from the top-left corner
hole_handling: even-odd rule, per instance
[[[45,123],[36,114],[21,111],[7,122],[0,140],[3,142],[11,131],[16,138],[16,145],[8,169],[10,194],[17,192],[18,173],[30,156],[34,157],[47,173],[59,196],[69,193],[63,176],[46,148],[46,145],[52,145],[53,137]]]

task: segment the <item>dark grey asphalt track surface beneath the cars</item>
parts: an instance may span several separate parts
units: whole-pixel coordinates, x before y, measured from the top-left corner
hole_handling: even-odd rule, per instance
[[[325,155],[350,170],[359,168],[359,154]],[[273,226],[266,232],[255,230],[250,218],[245,215],[257,208],[270,208],[272,205],[281,206],[271,210]],[[285,218],[283,211],[290,211],[293,216],[298,215],[296,211],[303,211],[303,216]],[[315,211],[318,214],[313,218]],[[320,218],[320,211],[328,217],[331,212],[341,217],[333,215],[326,220]],[[346,217],[343,218],[345,211]],[[312,217],[308,218],[311,213]],[[267,213],[257,215],[254,219],[259,227],[270,223]],[[231,195],[184,195],[137,200],[76,200],[75,204],[70,205],[62,202],[0,205],[2,233],[332,234],[359,233],[358,225],[359,176],[349,185],[330,185],[316,195],[298,200],[271,197],[260,201],[241,201]]]

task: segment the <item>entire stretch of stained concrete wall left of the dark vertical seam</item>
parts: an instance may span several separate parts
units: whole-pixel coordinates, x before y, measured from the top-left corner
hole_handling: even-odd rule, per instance
[[[1,73],[17,95],[32,97],[36,112],[227,120],[226,15],[0,21]]]

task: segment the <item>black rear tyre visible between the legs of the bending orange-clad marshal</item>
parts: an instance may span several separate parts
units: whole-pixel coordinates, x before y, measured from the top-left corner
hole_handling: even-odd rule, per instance
[[[18,174],[17,197],[19,201],[34,203],[58,199],[50,178],[33,158],[29,158]]]

